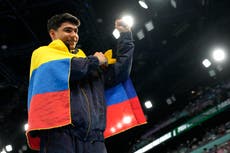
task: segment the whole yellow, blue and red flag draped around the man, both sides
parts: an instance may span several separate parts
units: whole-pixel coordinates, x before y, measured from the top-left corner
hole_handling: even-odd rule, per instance
[[[109,56],[111,58],[111,51]],[[27,104],[29,126],[26,132],[32,149],[40,148],[40,139],[32,137],[32,131],[71,124],[69,76],[73,57],[86,56],[81,50],[77,54],[69,53],[61,40],[55,40],[49,46],[40,47],[33,52]],[[110,61],[116,62],[114,59],[109,59]],[[146,122],[130,79],[105,93],[105,137]]]

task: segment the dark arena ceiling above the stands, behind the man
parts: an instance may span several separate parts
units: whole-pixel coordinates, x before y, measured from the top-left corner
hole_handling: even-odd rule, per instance
[[[106,140],[109,153],[128,152],[134,140],[186,106],[200,87],[229,78],[228,57],[220,64],[211,57],[215,47],[227,55],[230,50],[229,0],[146,2],[148,9],[138,0],[0,0],[0,149],[12,144],[18,152],[26,144],[30,57],[50,42],[46,23],[56,13],[81,20],[78,47],[87,55],[115,48],[115,19],[134,17],[131,79],[148,123]],[[204,59],[212,66],[205,68]],[[153,104],[149,110],[146,101]]]

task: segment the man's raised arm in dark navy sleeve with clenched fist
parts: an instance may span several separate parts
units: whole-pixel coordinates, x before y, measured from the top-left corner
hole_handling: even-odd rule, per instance
[[[109,65],[105,71],[106,87],[125,81],[129,77],[132,67],[134,43],[130,27],[125,25],[120,19],[116,20],[115,27],[120,31],[115,57],[117,62]]]

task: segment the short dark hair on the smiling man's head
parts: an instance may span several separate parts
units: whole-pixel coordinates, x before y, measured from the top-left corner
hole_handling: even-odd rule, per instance
[[[47,22],[48,32],[51,29],[57,30],[64,22],[70,22],[72,24],[75,24],[76,26],[80,26],[80,20],[77,17],[69,13],[56,14],[52,16]]]

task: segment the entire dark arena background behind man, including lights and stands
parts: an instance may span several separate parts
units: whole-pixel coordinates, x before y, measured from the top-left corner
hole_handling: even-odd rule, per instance
[[[63,12],[81,20],[87,55],[114,48],[115,19],[134,18],[130,77],[148,123],[106,139],[108,153],[230,153],[230,1],[145,3],[0,0],[0,153],[36,152],[24,129],[30,57]]]

